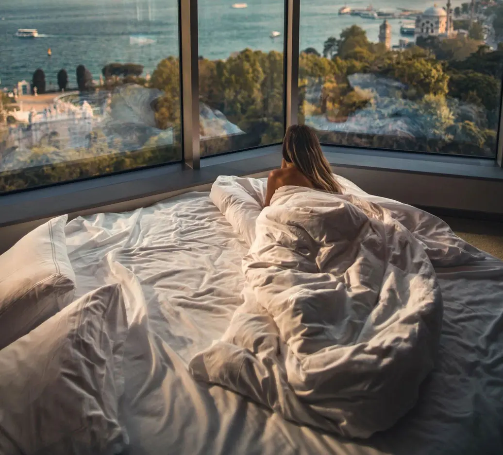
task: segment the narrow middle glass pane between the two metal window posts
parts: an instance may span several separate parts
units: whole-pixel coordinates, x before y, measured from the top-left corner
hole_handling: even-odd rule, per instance
[[[199,0],[201,156],[281,142],[283,0]]]

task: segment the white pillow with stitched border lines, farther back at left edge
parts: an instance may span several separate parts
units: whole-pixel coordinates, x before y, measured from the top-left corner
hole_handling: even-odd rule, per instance
[[[75,274],[66,252],[67,216],[25,235],[0,256],[0,349],[68,305]]]

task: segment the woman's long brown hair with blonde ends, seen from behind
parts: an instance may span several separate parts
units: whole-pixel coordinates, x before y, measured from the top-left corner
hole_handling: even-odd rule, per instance
[[[292,125],[287,129],[283,140],[283,159],[293,163],[314,188],[332,193],[342,192],[323,155],[318,138],[309,126]]]

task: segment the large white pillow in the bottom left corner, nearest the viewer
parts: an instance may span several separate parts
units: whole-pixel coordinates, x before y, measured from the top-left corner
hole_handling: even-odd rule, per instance
[[[126,334],[121,288],[108,285],[0,351],[0,453],[120,453]]]

